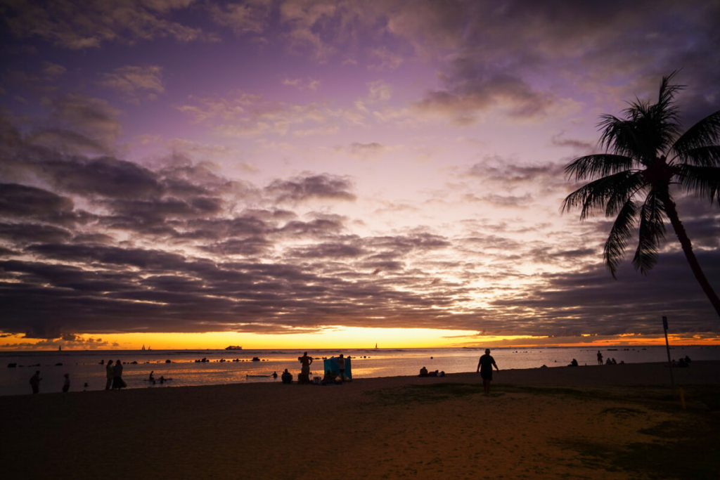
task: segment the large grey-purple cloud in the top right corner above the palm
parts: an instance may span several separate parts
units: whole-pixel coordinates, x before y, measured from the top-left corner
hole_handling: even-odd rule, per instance
[[[716,56],[710,45],[720,17],[714,2],[448,1],[442,9],[428,3],[413,2],[391,13],[389,22],[393,33],[419,51],[451,52],[441,71],[443,88],[418,102],[422,111],[458,124],[477,122],[490,109],[511,119],[539,119],[562,106],[560,91],[577,85],[602,89],[621,75],[642,78],[654,94],[657,78],[678,68],[685,68],[688,83],[702,92],[685,99],[688,117],[717,109],[708,108],[717,106],[720,93],[720,69],[708,62]],[[629,98],[639,93],[638,86],[629,86]]]

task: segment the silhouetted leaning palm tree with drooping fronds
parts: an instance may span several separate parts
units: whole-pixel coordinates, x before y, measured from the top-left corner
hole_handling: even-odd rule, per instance
[[[613,278],[636,227],[639,243],[632,263],[643,274],[652,269],[670,219],[695,278],[720,316],[720,299],[700,268],[670,194],[675,185],[720,205],[720,111],[681,133],[674,97],[684,86],[670,84],[675,73],[662,78],[657,104],[636,99],[624,118],[600,117],[599,144],[605,153],[565,166],[567,178],[591,181],[565,198],[562,211],[580,207],[581,221],[596,211],[616,216],[603,251]]]

